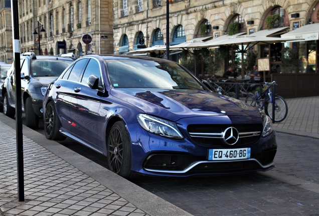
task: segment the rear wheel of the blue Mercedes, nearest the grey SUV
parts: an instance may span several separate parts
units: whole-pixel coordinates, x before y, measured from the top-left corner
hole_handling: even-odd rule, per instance
[[[44,115],[44,132],[48,139],[64,140],[66,137],[59,131],[60,123],[53,102],[49,102]]]

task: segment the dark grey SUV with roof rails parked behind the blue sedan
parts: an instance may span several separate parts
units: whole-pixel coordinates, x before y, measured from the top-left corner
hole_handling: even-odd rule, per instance
[[[32,128],[39,125],[39,117],[43,116],[42,99],[50,82],[56,79],[75,58],[36,55],[34,52],[24,52],[20,56],[21,63],[21,95],[22,109],[26,113],[25,124]],[[2,90],[4,98],[4,113],[15,116],[16,83],[12,67],[5,79]]]

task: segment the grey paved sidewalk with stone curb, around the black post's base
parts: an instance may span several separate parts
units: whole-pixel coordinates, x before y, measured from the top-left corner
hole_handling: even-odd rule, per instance
[[[65,146],[23,127],[18,201],[15,120],[0,113],[0,215],[190,215]],[[59,155],[59,156],[58,156]]]

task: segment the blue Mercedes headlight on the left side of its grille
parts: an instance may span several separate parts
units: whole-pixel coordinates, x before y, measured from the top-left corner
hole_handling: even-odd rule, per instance
[[[147,114],[138,114],[137,121],[141,127],[151,133],[176,139],[184,138],[175,122]]]

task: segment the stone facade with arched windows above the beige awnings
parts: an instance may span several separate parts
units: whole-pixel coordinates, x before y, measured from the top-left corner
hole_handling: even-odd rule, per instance
[[[164,45],[167,2],[170,44],[203,36],[203,25],[205,35],[213,37],[227,34],[235,21],[248,34],[266,29],[266,18],[273,13],[280,16],[278,27],[318,20],[318,0],[114,0],[114,53],[136,49],[140,37],[146,38],[146,47]]]

